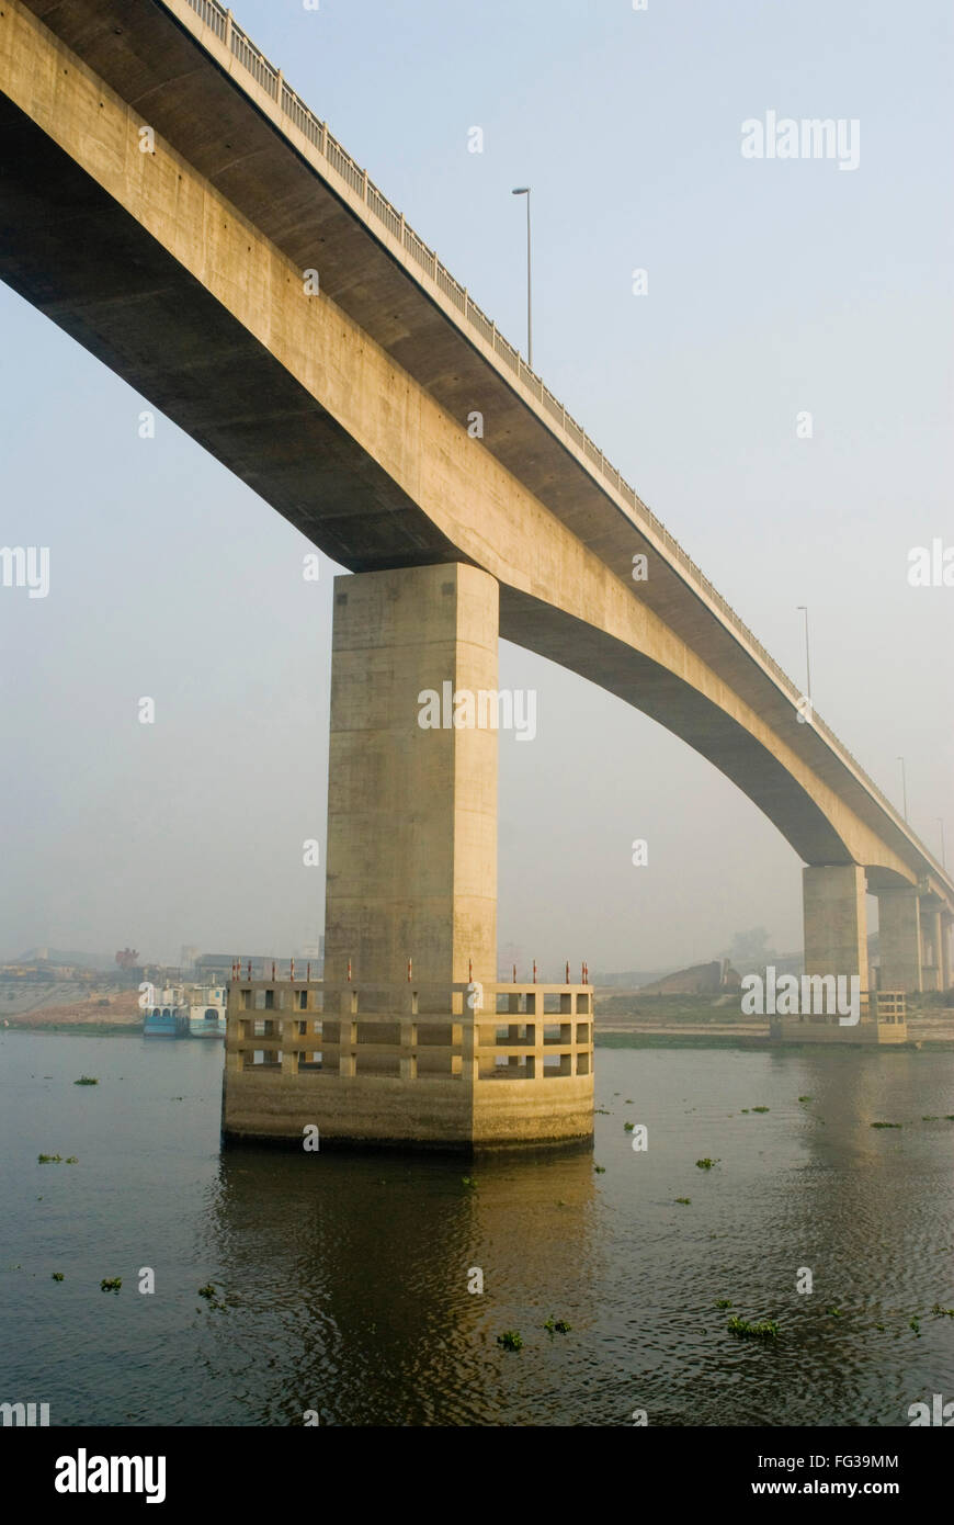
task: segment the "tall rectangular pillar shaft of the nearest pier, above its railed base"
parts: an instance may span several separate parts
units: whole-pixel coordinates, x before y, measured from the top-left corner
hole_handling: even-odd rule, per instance
[[[411,958],[439,1010],[469,961],[497,978],[497,730],[448,698],[495,692],[498,608],[463,564],[335,578],[326,990],[349,959],[361,987],[405,984]]]

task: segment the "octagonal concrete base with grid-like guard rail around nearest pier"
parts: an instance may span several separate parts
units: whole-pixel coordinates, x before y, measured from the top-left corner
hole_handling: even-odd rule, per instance
[[[494,1063],[498,1023],[509,1020],[495,1017],[495,994],[489,1011],[477,1014],[459,988],[457,1011],[450,1013],[448,1000],[439,1019],[416,1010],[408,1016],[411,990],[401,985],[392,987],[390,1013],[366,1016],[361,987],[334,993],[236,979],[229,987],[222,1135],[302,1148],[306,1128],[317,1125],[322,1145],[468,1153],[585,1145],[593,1138],[593,991],[518,990],[512,999],[533,1008],[521,1017],[532,1037],[500,1048],[504,1057],[530,1061],[533,1074],[511,1080]],[[256,1005],[265,999],[268,1008]],[[547,999],[573,1010],[546,1016]],[[556,1023],[553,1042],[546,1034]],[[546,1074],[547,1055],[559,1060],[562,1074]],[[431,1058],[443,1061],[443,1075],[428,1066]]]

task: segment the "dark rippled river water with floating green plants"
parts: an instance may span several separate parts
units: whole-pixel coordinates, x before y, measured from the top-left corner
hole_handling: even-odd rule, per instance
[[[931,1313],[954,1308],[954,1054],[596,1060],[593,1154],[469,1165],[221,1153],[219,1045],[3,1034],[0,1401],[52,1424],[907,1426],[954,1398]]]

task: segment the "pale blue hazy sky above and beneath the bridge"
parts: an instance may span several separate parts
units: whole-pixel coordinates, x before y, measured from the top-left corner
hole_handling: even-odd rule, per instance
[[[233,9],[521,346],[533,188],[535,369],[799,683],[809,605],[818,712],[898,804],[904,753],[954,854],[954,589],[907,583],[954,544],[948,0]],[[767,111],[856,119],[858,168],[744,159]],[[2,285],[0,334],[0,544],[50,547],[47,598],[0,587],[0,953],[312,941],[340,569],[305,583],[285,520],[162,416],[139,439],[146,403]],[[501,946],[800,947],[800,860],[710,764],[517,647],[500,685],[539,695],[501,738]]]

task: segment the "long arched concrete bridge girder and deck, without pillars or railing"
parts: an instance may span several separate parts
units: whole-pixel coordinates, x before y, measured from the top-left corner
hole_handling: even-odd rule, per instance
[[[701,580],[372,236],[274,102],[236,88],[186,11],[5,0],[0,276],[349,569],[472,563],[500,583],[503,636],[683,737],[806,862],[864,865],[873,889],[928,875],[954,903]]]

